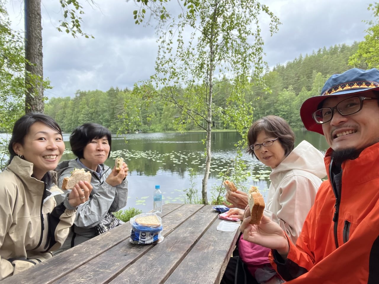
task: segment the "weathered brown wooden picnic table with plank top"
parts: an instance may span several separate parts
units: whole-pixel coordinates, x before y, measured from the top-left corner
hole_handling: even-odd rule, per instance
[[[37,264],[2,284],[219,284],[239,231],[217,231],[211,205],[164,204],[164,240],[130,243],[130,223]]]

